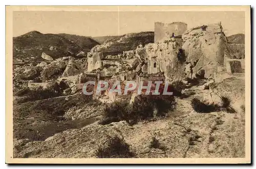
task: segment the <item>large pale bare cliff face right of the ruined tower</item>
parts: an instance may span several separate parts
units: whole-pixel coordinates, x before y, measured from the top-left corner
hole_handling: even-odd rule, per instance
[[[182,39],[186,62],[193,65],[192,76],[203,69],[205,78],[212,78],[217,67],[224,64],[227,40],[220,23],[190,29]]]

